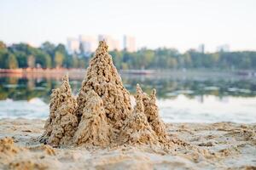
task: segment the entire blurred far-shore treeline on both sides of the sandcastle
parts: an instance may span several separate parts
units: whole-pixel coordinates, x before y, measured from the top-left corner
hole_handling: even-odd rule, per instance
[[[183,54],[174,48],[142,48],[134,53],[109,52],[118,69],[256,69],[256,52],[218,52],[203,54],[189,50]],[[91,54],[92,56],[93,54]],[[33,48],[26,43],[7,47],[0,42],[0,68],[85,68],[91,56],[68,54],[63,44],[44,42]]]

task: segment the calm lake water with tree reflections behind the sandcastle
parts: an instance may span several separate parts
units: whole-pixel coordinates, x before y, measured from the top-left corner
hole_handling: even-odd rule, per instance
[[[84,75],[84,73],[83,73]],[[156,88],[165,122],[256,122],[256,77],[230,75],[122,75],[131,94]],[[81,77],[71,77],[77,94]],[[0,75],[0,118],[41,118],[49,114],[51,89],[61,77]]]

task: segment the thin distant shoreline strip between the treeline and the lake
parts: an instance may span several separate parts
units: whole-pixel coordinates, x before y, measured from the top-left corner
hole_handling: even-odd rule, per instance
[[[20,69],[1,69],[0,77],[62,77],[68,74],[74,79],[81,79],[84,77],[86,69],[82,68],[20,68]],[[237,70],[237,71],[222,71],[210,69],[178,69],[178,70],[119,70],[121,75],[131,76],[146,76],[146,77],[225,77],[225,76],[240,76],[240,77],[256,77],[256,71],[252,70]]]

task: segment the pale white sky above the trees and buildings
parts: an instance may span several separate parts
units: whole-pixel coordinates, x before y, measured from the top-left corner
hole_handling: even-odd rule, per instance
[[[205,44],[206,51],[256,50],[255,0],[0,0],[0,40],[67,43],[67,37],[98,34],[121,41],[136,37],[137,48]]]

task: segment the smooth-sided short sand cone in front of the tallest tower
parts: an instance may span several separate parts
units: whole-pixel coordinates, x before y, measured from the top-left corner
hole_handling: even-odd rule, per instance
[[[83,116],[74,135],[74,143],[105,146],[109,144],[110,129],[103,101],[94,90],[87,92]]]

